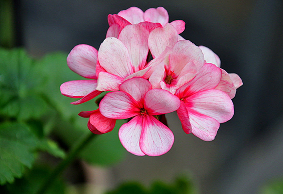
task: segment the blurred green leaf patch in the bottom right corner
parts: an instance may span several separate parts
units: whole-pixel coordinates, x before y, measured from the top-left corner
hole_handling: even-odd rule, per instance
[[[283,179],[269,181],[260,189],[260,194],[282,194],[283,193]]]

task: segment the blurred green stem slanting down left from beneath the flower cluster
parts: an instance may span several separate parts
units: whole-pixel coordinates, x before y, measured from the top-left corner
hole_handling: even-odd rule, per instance
[[[92,140],[93,137],[96,135],[93,133],[90,133],[89,131],[85,134],[83,134],[78,141],[75,142],[75,144],[70,148],[70,151],[67,155],[67,157],[62,160],[59,165],[51,172],[51,174],[46,178],[42,186],[38,189],[37,194],[43,194],[46,192],[48,187],[53,183],[53,181],[56,179],[56,177],[63,172],[63,170],[70,164],[78,153],[82,151],[83,148]]]

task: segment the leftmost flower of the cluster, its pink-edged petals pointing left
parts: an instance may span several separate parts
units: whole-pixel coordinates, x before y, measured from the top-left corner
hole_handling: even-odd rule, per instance
[[[87,44],[75,46],[67,57],[68,67],[75,73],[91,80],[74,80],[65,82],[60,86],[63,95],[71,98],[82,98],[71,104],[77,105],[89,101],[99,95],[96,90],[97,50]]]

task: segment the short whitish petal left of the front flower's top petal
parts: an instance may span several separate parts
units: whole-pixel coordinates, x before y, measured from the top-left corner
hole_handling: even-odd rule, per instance
[[[100,72],[97,80],[97,90],[99,91],[117,91],[123,78],[107,72]]]

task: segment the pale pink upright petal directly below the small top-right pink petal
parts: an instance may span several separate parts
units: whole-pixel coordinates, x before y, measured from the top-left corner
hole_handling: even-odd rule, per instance
[[[178,33],[171,24],[166,24],[163,28],[156,28],[149,34],[148,46],[153,58],[160,55],[166,47],[173,48],[178,41]]]

